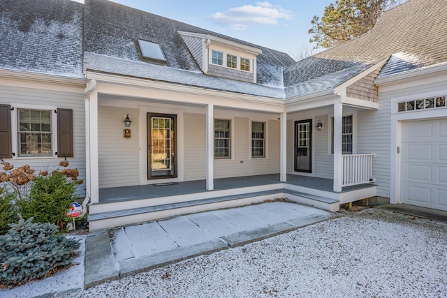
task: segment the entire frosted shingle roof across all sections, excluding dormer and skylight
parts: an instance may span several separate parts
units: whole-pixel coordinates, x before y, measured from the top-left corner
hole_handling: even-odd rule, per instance
[[[390,58],[379,77],[447,61],[445,1],[409,0],[363,36],[295,63],[288,54],[107,0],[0,0],[0,68],[83,77],[85,54],[90,70],[291,98],[337,87],[383,59]],[[178,31],[261,49],[258,84],[204,75]],[[159,43],[166,65],[142,58],[138,38]]]

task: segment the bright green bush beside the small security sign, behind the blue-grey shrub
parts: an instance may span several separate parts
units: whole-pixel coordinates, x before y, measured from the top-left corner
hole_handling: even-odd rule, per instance
[[[70,180],[59,171],[34,178],[27,198],[17,200],[24,218],[34,217],[38,223],[54,223],[60,230],[71,218],[65,216],[75,200],[77,181]]]

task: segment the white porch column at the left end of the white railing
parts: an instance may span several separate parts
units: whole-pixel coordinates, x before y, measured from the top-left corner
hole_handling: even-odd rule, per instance
[[[334,103],[334,191],[342,191],[342,120],[343,104]]]

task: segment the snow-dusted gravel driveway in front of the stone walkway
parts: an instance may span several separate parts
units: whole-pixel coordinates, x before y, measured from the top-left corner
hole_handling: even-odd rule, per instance
[[[348,214],[68,297],[447,297],[447,230]]]

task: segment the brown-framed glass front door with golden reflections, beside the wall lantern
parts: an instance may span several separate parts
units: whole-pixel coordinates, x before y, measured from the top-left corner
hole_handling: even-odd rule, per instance
[[[147,114],[147,172],[149,179],[177,177],[175,137],[177,117]]]

